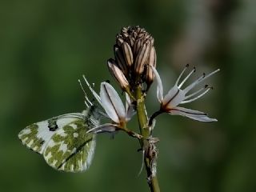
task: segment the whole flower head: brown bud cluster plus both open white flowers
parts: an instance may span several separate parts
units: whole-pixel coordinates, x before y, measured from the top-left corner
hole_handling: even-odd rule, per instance
[[[106,117],[112,120],[111,123],[105,123],[101,126],[94,127],[89,130],[90,132],[101,133],[125,130],[128,134],[132,136],[136,135],[135,137],[140,138],[141,136],[138,136],[138,134],[126,129],[126,122],[130,120],[134,111],[137,110],[136,107],[139,100],[142,100],[142,98],[137,97],[138,95],[135,93],[137,91],[136,88],[139,86],[141,88],[140,91],[147,91],[152,82],[154,82],[154,79],[156,79],[157,82],[157,98],[160,102],[160,107],[159,110],[150,116],[150,119],[146,119],[150,129],[154,127],[155,118],[162,113],[182,115],[201,122],[217,121],[217,119],[209,118],[207,114],[201,111],[190,110],[179,105],[194,102],[211,90],[212,87],[205,85],[199,90],[194,91],[194,93],[190,93],[195,86],[218,72],[218,70],[214,70],[214,72],[207,75],[203,74],[196,81],[182,89],[182,86],[187,79],[195,72],[194,68],[182,80],[183,74],[186,73],[186,70],[189,67],[189,65],[186,65],[174,86],[164,96],[162,80],[156,70],[154,38],[152,38],[145,29],[139,26],[123,27],[120,34],[116,36],[114,58],[108,60],[107,66],[122,90],[126,91],[126,106],[122,104],[121,98],[119,98],[117,91],[114,90],[114,87],[111,86],[110,83],[102,82],[100,94],[98,95],[85,78],[87,86],[89,86],[94,94],[94,98],[98,100],[105,110]],[[143,90],[144,84],[146,84],[146,89]],[[140,95],[146,97],[145,94]]]

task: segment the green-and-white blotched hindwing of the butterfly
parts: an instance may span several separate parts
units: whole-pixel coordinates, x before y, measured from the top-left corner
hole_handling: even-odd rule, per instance
[[[94,134],[87,134],[88,125],[78,119],[58,129],[43,153],[46,162],[57,170],[80,172],[90,166],[95,148]]]

